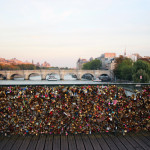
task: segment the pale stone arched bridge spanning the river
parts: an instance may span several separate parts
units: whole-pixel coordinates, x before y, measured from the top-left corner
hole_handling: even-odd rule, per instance
[[[110,78],[113,77],[113,73],[110,70],[8,70],[0,71],[0,76],[5,77],[7,80],[12,80],[14,76],[21,76],[25,80],[29,80],[31,75],[40,75],[42,80],[46,79],[49,74],[58,74],[61,80],[64,80],[64,76],[67,74],[76,75],[78,80],[81,80],[84,74],[91,74],[94,77],[99,77],[102,74],[107,74]]]

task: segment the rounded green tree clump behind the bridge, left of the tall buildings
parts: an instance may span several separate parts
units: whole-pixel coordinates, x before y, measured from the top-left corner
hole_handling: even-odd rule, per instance
[[[83,65],[84,70],[100,70],[102,62],[98,59],[87,62]]]

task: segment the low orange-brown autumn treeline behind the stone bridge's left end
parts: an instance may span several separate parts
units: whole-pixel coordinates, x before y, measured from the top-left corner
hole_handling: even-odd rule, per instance
[[[3,65],[0,64],[0,70],[36,70],[41,69],[38,66],[35,66],[33,64],[19,64],[19,65]]]

